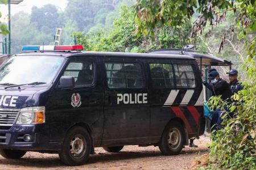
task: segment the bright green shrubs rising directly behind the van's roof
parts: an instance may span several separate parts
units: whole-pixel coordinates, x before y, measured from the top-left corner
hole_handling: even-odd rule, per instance
[[[110,31],[89,31],[82,37],[81,32],[78,32],[77,39],[90,51],[145,52],[151,49],[181,48],[189,44],[190,28],[189,23],[176,28],[159,27],[155,29],[153,37],[138,37],[135,33],[134,11],[124,6]]]

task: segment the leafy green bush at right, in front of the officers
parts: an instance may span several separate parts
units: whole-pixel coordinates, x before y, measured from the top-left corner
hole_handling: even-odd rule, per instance
[[[213,131],[210,145],[210,163],[222,169],[256,169],[256,67],[247,59],[243,67],[249,79],[243,82],[244,90],[232,96],[227,104],[220,97],[212,97],[209,103],[222,107],[223,129]],[[228,106],[228,111],[223,108]],[[230,118],[234,113],[234,118]]]

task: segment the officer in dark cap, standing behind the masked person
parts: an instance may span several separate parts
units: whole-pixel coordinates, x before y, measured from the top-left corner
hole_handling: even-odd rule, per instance
[[[236,94],[238,91],[243,90],[242,83],[237,79],[238,71],[236,69],[231,69],[226,74],[229,74],[229,85],[232,94]]]

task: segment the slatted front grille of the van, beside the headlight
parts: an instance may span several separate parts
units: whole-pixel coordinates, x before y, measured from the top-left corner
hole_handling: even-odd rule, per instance
[[[19,109],[0,109],[0,126],[12,126],[18,113]]]

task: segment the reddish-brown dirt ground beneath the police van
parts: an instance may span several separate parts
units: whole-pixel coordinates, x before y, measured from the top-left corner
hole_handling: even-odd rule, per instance
[[[208,152],[208,137],[195,140],[198,148],[185,147],[180,155],[163,156],[159,148],[125,146],[119,153],[110,154],[96,148],[89,163],[80,167],[65,167],[57,154],[27,152],[19,160],[7,160],[0,156],[0,169],[191,169],[195,159]]]

